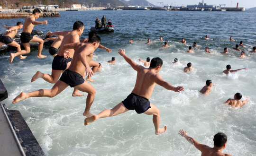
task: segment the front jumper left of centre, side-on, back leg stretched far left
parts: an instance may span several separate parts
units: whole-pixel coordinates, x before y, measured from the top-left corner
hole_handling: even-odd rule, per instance
[[[89,39],[88,43],[77,42],[65,44],[63,48],[75,50],[75,52],[72,54],[73,61],[71,62],[69,68],[64,71],[61,78],[52,87],[52,89],[40,89],[31,93],[22,92],[20,93],[20,95],[13,99],[12,103],[17,103],[28,97],[54,97],[60,94],[66,87],[70,86],[82,92],[88,93],[86,99],[86,107],[83,115],[87,117],[92,116],[92,114],[90,113],[90,108],[94,100],[96,90],[94,89],[94,87],[91,86],[89,82],[83,79],[82,75],[83,73],[86,73],[86,75],[93,75],[93,72],[89,66],[89,62],[92,59],[93,52],[96,48],[98,48],[100,42],[101,37],[98,35],[94,35]],[[65,39],[63,40],[63,43],[66,43]],[[55,56],[55,58],[56,57],[57,56]]]

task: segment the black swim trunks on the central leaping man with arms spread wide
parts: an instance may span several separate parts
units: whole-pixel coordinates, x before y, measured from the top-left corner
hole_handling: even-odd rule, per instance
[[[128,110],[135,110],[138,114],[146,112],[150,107],[150,102],[145,97],[131,93],[122,101]]]

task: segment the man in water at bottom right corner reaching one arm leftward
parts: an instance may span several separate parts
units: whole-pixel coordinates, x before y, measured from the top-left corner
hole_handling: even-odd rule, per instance
[[[227,147],[228,137],[224,133],[217,133],[214,135],[213,142],[214,147],[197,142],[192,137],[188,136],[187,131],[179,130],[179,134],[184,137],[189,143],[194,145],[198,150],[201,151],[201,156],[232,156],[226,153],[222,153],[222,150]]]

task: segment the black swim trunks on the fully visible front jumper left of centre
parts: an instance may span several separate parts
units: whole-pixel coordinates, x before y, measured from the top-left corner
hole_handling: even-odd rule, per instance
[[[82,75],[69,69],[64,71],[60,80],[68,84],[70,87],[81,85],[84,82]]]

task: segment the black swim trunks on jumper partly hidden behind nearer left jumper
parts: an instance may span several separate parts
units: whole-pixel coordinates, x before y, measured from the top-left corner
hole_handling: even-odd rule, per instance
[[[56,55],[52,63],[52,69],[54,70],[65,70],[67,63],[72,61],[72,58],[65,59],[64,56]]]

